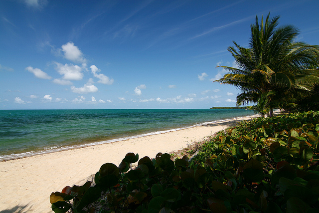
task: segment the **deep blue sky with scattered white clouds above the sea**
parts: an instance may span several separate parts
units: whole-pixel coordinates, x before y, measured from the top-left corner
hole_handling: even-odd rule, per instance
[[[213,82],[256,15],[319,44],[318,0],[1,0],[0,109],[235,106]]]

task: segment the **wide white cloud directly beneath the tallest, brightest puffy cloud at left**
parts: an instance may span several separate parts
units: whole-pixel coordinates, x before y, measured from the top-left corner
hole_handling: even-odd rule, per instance
[[[82,69],[78,65],[63,65],[56,62],[56,70],[60,75],[63,75],[64,80],[81,80],[83,78]]]

